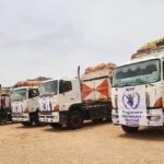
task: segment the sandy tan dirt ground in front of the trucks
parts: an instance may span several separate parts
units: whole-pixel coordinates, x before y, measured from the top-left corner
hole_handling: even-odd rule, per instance
[[[164,130],[126,134],[112,124],[82,129],[0,126],[0,164],[162,164]]]

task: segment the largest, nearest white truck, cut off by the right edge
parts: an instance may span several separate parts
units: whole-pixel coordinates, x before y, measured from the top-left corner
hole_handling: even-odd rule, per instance
[[[127,133],[164,126],[164,38],[143,45],[113,72],[113,122]]]

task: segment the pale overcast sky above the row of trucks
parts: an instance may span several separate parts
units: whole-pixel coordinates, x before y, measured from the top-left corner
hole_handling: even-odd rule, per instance
[[[120,65],[163,37],[163,0],[0,0],[0,83]]]

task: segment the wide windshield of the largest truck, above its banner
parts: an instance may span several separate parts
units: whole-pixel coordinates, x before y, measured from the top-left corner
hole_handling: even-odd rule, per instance
[[[160,74],[159,59],[118,67],[114,70],[113,87],[153,83]]]

